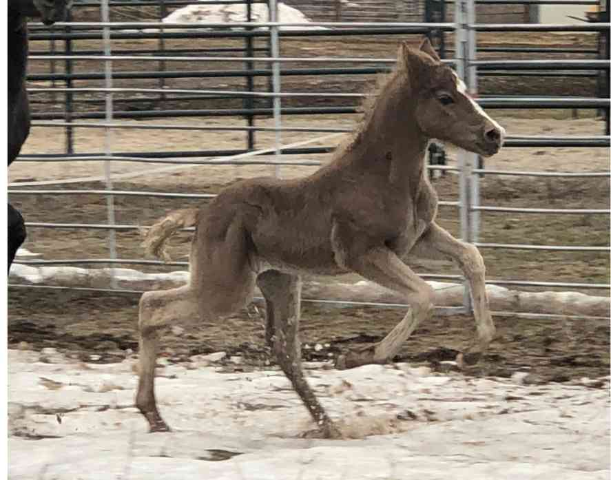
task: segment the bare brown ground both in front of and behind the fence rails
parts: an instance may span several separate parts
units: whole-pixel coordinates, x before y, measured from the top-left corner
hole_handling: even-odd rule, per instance
[[[590,36],[546,35],[534,37],[488,36],[490,43],[520,41],[547,45],[589,45]],[[352,41],[354,40],[354,41]],[[320,42],[287,41],[282,54],[315,56],[329,54],[333,49],[342,49],[346,56],[393,56],[397,38],[392,39],[352,39],[350,42],[328,41],[322,48]],[[152,43],[149,42],[149,47]],[[126,43],[127,45],[127,43]],[[136,45],[134,43],[131,46]],[[138,43],[143,45],[143,43]],[[207,43],[207,45],[214,45]],[[127,45],[130,46],[130,45]],[[176,43],[175,48],[180,44]],[[183,45],[184,46],[184,45]],[[41,47],[42,48],[42,47]],[[91,48],[80,45],[79,48]],[[322,50],[321,50],[322,48]],[[323,53],[320,53],[323,52]],[[558,57],[556,57],[558,58]],[[149,64],[147,64],[149,65]],[[178,68],[194,68],[185,63],[172,64]],[[290,66],[290,65],[287,65]],[[293,65],[296,66],[296,65]],[[83,63],[81,69],[94,71],[98,64]],[[215,68],[222,65],[215,63]],[[33,65],[34,71],[42,68]],[[144,65],[134,64],[127,70],[143,69]],[[120,69],[119,69],[120,70]],[[38,70],[43,71],[43,70]],[[242,81],[242,80],[240,80]],[[231,81],[214,82],[214,87],[233,85]],[[371,76],[345,81],[343,79],[304,78],[296,81],[289,79],[283,84],[286,90],[316,90],[324,87],[327,91],[360,92],[371,84]],[[149,82],[150,86],[154,83]],[[172,81],[172,87],[209,88],[209,79],[202,81]],[[75,85],[75,86],[85,86]],[[90,85],[87,85],[90,86]],[[122,86],[117,83],[116,86]],[[132,85],[133,86],[133,85]],[[139,83],[137,86],[147,86]],[[566,79],[512,79],[499,77],[481,81],[481,92],[486,94],[577,94],[592,95],[593,81],[566,81]],[[149,109],[148,101],[131,103],[130,108]],[[198,107],[198,101],[190,102]],[[182,105],[180,101],[167,103],[165,107]],[[320,102],[317,103],[319,106]],[[125,104],[127,105],[127,103]],[[208,103],[206,103],[208,105]],[[201,105],[199,105],[201,106]],[[61,109],[61,101],[49,107],[38,107],[37,111]],[[88,107],[87,107],[88,108]],[[126,107],[127,108],[127,107]],[[495,112],[498,116],[500,112]],[[592,112],[585,113],[592,116]],[[593,118],[570,121],[566,112],[503,112],[502,122],[508,127],[509,134],[600,134],[602,124]],[[517,117],[521,117],[517,118]],[[526,118],[526,119],[524,119]],[[537,118],[535,121],[534,118]],[[563,118],[563,120],[552,120]],[[178,121],[196,122],[196,119]],[[234,121],[231,118],[223,122]],[[287,122],[304,125],[304,118],[287,118]],[[352,125],[353,118],[326,117],[324,122],[313,119],[318,125]],[[150,123],[150,122],[149,122]],[[170,123],[170,121],[165,121]],[[61,152],[63,134],[59,129],[34,128],[32,136],[24,147],[23,153]],[[211,134],[203,132],[163,131],[121,131],[116,132],[114,147],[125,152],[154,151],[155,149],[198,149],[204,147],[241,148],[243,136],[239,134]],[[271,143],[272,137],[258,135],[260,145]],[[287,135],[283,141],[296,141],[303,136]],[[310,137],[308,137],[310,138]],[[103,149],[103,132],[80,129],[76,134],[76,152],[100,152]],[[323,144],[336,143],[322,142]],[[315,144],[314,144],[315,145]],[[318,159],[318,158],[317,158]],[[451,158],[451,163],[454,159]],[[608,149],[505,149],[496,160],[487,164],[501,169],[528,167],[537,170],[562,171],[605,171],[608,169]],[[115,173],[125,173],[143,169],[143,166],[123,163],[114,167]],[[311,169],[282,167],[284,176],[307,174]],[[99,163],[70,163],[63,165],[15,164],[11,168],[11,181],[48,180],[49,178],[74,178],[99,176],[102,167]],[[171,174],[143,176],[130,180],[117,180],[115,189],[136,189],[142,191],[180,191],[192,193],[214,193],[223,185],[259,174],[270,174],[269,167],[194,167],[188,171]],[[455,176],[448,174],[435,180],[435,187],[442,200],[457,200]],[[78,185],[52,186],[50,188],[103,188],[101,182],[81,182]],[[529,179],[525,177],[493,177],[481,179],[481,198],[483,205],[504,205],[510,207],[558,207],[558,208],[608,208],[608,178],[571,178],[561,180]],[[11,196],[11,202],[24,212],[29,222],[105,222],[105,199],[101,196]],[[176,207],[189,205],[187,200],[158,198],[117,197],[116,222],[122,224],[149,225],[163,212]],[[439,222],[451,232],[458,233],[457,211],[453,207],[440,207]],[[554,216],[532,214],[486,213],[481,221],[482,242],[521,242],[530,244],[573,244],[606,245],[610,228],[608,216]],[[117,234],[118,256],[121,258],[141,258],[136,231]],[[180,259],[187,251],[188,237],[180,236],[172,246],[175,258]],[[30,228],[29,249],[41,253],[42,258],[104,258],[107,257],[106,233],[103,231],[83,231],[68,229]],[[601,252],[529,252],[519,250],[483,251],[486,258],[488,278],[528,279],[547,281],[609,282],[608,253]],[[145,269],[143,267],[143,269]],[[416,264],[416,270],[435,273],[457,273],[457,270],[444,262],[436,264]],[[585,293],[608,295],[608,291],[586,289]],[[11,287],[8,295],[8,342],[10,347],[41,349],[52,346],[69,354],[90,359],[99,355],[99,362],[114,361],[129,355],[137,349],[136,317],[138,295],[91,293],[83,291],[49,291]],[[228,365],[227,368],[256,368],[265,364],[267,352],[262,341],[262,306],[259,313],[254,309],[242,311],[229,320],[218,324],[200,325],[181,331],[174,328],[168,331],[163,340],[163,355],[174,361],[186,359],[189,355],[227,351],[242,355],[242,366]],[[396,309],[376,309],[373,307],[339,308],[305,302],[302,313],[302,340],[304,358],[327,359],[335,356],[344,348],[351,348],[362,342],[379,340],[402,317]],[[479,359],[477,364],[466,367],[468,375],[508,376],[515,371],[532,373],[532,382],[565,382],[576,377],[599,377],[609,374],[608,320],[532,320],[512,316],[497,317],[499,335],[490,351]],[[454,359],[457,351],[462,351],[473,338],[473,318],[468,315],[450,317],[435,316],[422,324],[406,343],[397,359],[415,364],[424,363],[434,368],[447,368],[439,364],[445,359]],[[322,349],[313,348],[321,344]],[[327,346],[327,344],[329,344]]]

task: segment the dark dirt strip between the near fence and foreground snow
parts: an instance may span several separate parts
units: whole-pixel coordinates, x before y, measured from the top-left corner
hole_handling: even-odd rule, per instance
[[[260,314],[265,310],[260,305]],[[83,360],[116,362],[137,349],[138,295],[10,289],[8,345],[52,346]],[[377,342],[400,320],[397,309],[344,308],[304,303],[302,353],[306,360],[334,359],[340,351]],[[497,340],[481,358],[466,358],[466,375],[508,377],[518,371],[531,382],[566,382],[609,373],[607,320],[531,320],[497,317]],[[473,317],[454,315],[422,324],[395,358],[437,371],[465,351],[475,337]],[[318,346],[317,346],[318,344]],[[161,356],[183,362],[191,355],[226,351],[228,371],[263,367],[273,358],[265,348],[262,317],[242,311],[227,320],[178,328],[163,334]]]

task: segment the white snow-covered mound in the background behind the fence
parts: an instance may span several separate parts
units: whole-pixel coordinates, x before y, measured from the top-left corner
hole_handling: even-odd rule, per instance
[[[269,21],[267,4],[254,3],[251,12],[253,22]],[[188,5],[175,10],[163,19],[164,23],[239,23],[246,21],[248,21],[248,19],[246,5],[244,3],[229,5]],[[315,30],[322,29],[322,27],[307,25],[311,22],[308,17],[296,8],[289,7],[284,3],[278,3],[278,21],[282,23],[303,23],[303,26],[282,27],[281,30],[303,28]]]

